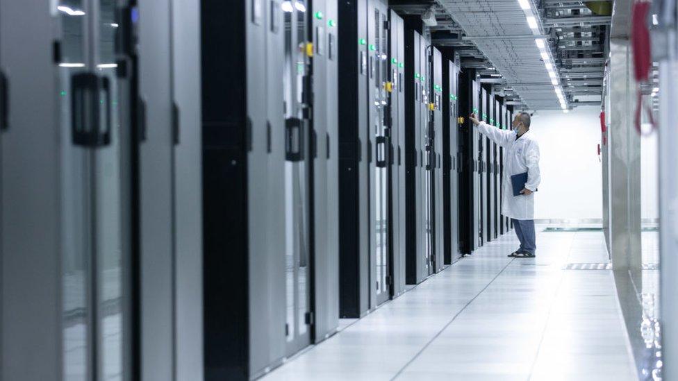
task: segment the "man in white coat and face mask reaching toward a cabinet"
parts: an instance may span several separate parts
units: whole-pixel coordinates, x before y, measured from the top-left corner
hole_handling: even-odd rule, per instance
[[[479,121],[476,115],[470,116],[479,132],[497,145],[504,147],[504,192],[502,214],[511,218],[515,234],[520,240],[520,248],[509,257],[531,258],[536,253],[534,234],[534,192],[539,186],[539,145],[529,132],[530,115],[519,112],[511,123],[512,131],[500,130]],[[513,196],[511,176],[527,172],[527,183],[520,196]]]

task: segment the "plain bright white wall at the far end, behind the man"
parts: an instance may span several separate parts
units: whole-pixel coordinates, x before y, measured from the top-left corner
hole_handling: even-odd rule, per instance
[[[602,164],[598,160],[600,107],[568,114],[540,111],[530,130],[539,142],[541,184],[535,219],[602,219]]]

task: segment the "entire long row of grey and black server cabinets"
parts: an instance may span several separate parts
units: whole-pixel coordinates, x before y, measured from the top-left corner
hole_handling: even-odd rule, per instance
[[[0,0],[0,379],[257,378],[509,230],[460,117],[510,112],[423,32],[381,0]]]

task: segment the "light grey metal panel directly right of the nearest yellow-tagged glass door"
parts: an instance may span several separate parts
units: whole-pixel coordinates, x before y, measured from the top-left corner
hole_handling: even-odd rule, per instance
[[[334,332],[339,319],[337,9],[336,2],[314,1],[313,46],[313,247],[314,341]],[[331,46],[332,45],[332,46]],[[271,78],[273,81],[273,78]],[[334,145],[335,149],[332,149]]]

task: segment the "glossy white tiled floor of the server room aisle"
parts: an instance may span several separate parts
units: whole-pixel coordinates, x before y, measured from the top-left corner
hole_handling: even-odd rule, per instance
[[[509,233],[290,359],[265,380],[635,380],[602,232]],[[604,266],[602,266],[604,267]]]

